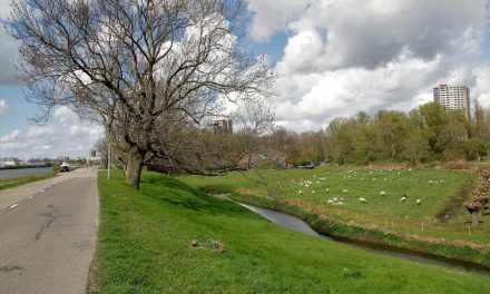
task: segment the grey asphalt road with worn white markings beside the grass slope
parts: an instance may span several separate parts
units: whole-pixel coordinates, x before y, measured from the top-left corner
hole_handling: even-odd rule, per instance
[[[0,193],[0,293],[86,293],[97,173],[77,169]]]

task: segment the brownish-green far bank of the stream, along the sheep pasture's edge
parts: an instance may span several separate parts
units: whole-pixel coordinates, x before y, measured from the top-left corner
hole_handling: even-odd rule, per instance
[[[298,207],[280,199],[246,194],[232,194],[234,202],[285,213],[303,219],[321,235],[339,242],[349,242],[376,251],[398,252],[452,264],[454,267],[490,274],[490,245],[468,242],[424,238],[361,226],[351,222],[333,219],[324,214]]]

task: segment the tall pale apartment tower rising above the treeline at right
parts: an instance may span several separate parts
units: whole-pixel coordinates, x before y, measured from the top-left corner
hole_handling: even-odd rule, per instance
[[[470,119],[470,89],[467,86],[439,85],[434,88],[434,102],[447,109],[461,109]]]

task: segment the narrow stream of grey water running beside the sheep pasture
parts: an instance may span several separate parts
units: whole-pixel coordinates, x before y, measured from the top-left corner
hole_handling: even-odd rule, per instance
[[[215,195],[215,196],[226,199],[228,195],[222,194],[222,195]],[[343,241],[343,239],[341,241],[341,239],[332,238],[332,237],[324,236],[324,235],[316,233],[316,231],[311,228],[306,222],[304,222],[303,219],[301,219],[296,216],[292,216],[288,214],[284,214],[284,213],[280,213],[276,210],[271,210],[267,208],[262,208],[262,207],[257,207],[257,206],[253,206],[253,205],[248,205],[248,204],[241,204],[241,203],[237,203],[237,204],[239,204],[243,207],[246,207],[247,209],[261,215],[262,217],[271,220],[274,224],[277,224],[277,225],[285,227],[285,228],[288,228],[288,229],[301,232],[301,233],[310,235],[310,236],[325,238],[331,242],[340,243],[345,246],[367,251],[367,252],[375,253],[375,254],[382,254],[382,255],[403,258],[403,259],[408,259],[408,261],[412,261],[412,262],[416,262],[416,263],[421,263],[421,264],[430,264],[430,265],[443,266],[443,267],[449,267],[449,268],[462,270],[462,271],[467,271],[467,272],[472,272],[472,273],[490,276],[489,268],[486,268],[486,267],[482,267],[482,266],[479,266],[476,264],[471,264],[471,263],[467,263],[467,262],[462,262],[462,261],[457,261],[457,259],[439,257],[439,256],[433,256],[433,255],[422,255],[422,254],[418,254],[414,252],[405,252],[403,249],[396,251],[396,248],[384,249],[384,248],[379,248],[379,247],[371,247],[369,245],[356,244],[351,241]]]

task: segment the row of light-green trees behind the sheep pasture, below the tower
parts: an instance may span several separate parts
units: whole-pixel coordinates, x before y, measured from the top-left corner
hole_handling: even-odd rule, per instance
[[[470,119],[434,102],[408,114],[380,110],[371,117],[361,111],[335,118],[321,131],[296,134],[280,128],[268,139],[282,161],[294,165],[479,160],[490,154],[490,110],[476,102]]]

